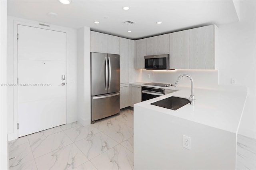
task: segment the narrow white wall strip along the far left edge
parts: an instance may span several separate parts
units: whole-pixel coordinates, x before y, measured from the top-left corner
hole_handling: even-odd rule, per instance
[[[0,84],[6,83],[6,51],[7,51],[7,2],[0,1]],[[6,87],[0,89],[0,169],[8,169],[8,136],[7,136],[7,107]]]

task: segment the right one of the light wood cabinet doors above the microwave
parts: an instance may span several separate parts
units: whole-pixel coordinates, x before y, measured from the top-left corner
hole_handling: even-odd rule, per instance
[[[170,34],[157,36],[157,55],[170,53]]]

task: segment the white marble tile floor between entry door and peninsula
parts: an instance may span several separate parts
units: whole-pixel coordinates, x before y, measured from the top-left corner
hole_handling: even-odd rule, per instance
[[[74,122],[12,140],[9,158],[10,170],[131,170],[133,111],[125,108],[92,125]]]

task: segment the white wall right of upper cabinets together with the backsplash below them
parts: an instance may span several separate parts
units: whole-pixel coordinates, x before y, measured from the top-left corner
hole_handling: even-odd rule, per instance
[[[219,28],[219,69],[147,71],[142,70],[142,81],[175,83],[178,75],[191,75],[196,87],[214,87],[216,83],[228,86],[248,86],[248,98],[240,124],[240,134],[256,138],[256,12],[255,1],[240,1],[240,21],[217,25]],[[237,5],[237,4],[236,4]],[[154,77],[152,76],[154,73]],[[150,78],[148,78],[150,74]],[[231,85],[236,78],[236,85]],[[180,85],[190,85],[188,79]],[[196,95],[196,94],[195,94]]]

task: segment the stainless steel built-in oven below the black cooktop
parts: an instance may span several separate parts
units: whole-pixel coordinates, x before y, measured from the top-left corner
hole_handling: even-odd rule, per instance
[[[141,100],[146,101],[164,95],[164,89],[154,87],[141,87]]]

